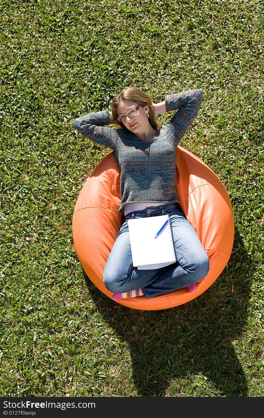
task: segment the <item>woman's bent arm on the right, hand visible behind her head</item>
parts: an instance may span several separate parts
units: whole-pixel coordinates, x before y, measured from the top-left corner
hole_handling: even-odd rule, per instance
[[[202,97],[203,93],[200,89],[187,90],[186,92],[168,94],[163,102],[154,104],[155,115],[156,112],[158,115],[162,112],[179,109],[167,123],[178,143],[198,115]]]

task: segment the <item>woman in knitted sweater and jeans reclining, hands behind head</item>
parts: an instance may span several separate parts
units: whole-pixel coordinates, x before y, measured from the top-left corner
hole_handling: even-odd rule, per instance
[[[154,104],[136,87],[127,87],[112,100],[108,110],[73,121],[78,132],[106,145],[121,170],[121,204],[124,222],[108,257],[103,281],[113,299],[146,296],[153,298],[195,283],[209,271],[209,259],[195,229],[187,221],[176,194],[176,148],[196,118],[202,99],[200,89],[166,95]],[[155,118],[179,109],[166,123]],[[115,123],[120,128],[107,127]],[[168,214],[177,262],[154,270],[133,267],[128,219]]]

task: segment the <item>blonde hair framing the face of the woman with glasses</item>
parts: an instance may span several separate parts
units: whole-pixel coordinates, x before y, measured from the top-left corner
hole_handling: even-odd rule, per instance
[[[125,89],[121,90],[115,97],[112,99],[111,104],[111,121],[116,125],[119,125],[121,128],[124,128],[123,122],[119,122],[117,119],[117,106],[122,100],[132,100],[133,102],[140,104],[141,106],[148,106],[148,121],[153,127],[153,129],[158,130],[161,125],[159,122],[156,121],[154,115],[154,109],[152,106],[153,100],[152,97],[143,92],[141,89],[137,87],[126,87]]]

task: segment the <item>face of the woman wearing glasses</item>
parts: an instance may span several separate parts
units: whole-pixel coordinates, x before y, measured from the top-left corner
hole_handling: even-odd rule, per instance
[[[120,117],[121,115],[126,115],[129,110],[134,109],[137,106],[138,104],[132,100],[121,101],[117,106],[118,116]],[[143,132],[149,125],[147,114],[148,106],[141,106],[138,108],[135,115],[126,115],[126,118],[122,119],[122,123],[133,133]]]

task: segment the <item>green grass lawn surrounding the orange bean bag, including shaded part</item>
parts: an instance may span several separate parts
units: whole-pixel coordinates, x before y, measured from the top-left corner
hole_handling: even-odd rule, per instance
[[[0,395],[264,396],[264,3],[2,0],[0,15]],[[162,311],[98,291],[72,238],[109,152],[72,121],[130,85],[154,102],[202,89],[181,145],[234,210],[223,273]]]

